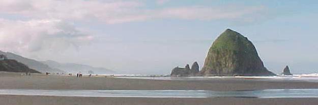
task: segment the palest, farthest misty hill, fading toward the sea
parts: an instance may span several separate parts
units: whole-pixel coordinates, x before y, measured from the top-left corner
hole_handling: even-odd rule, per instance
[[[68,73],[78,73],[81,72],[82,74],[111,74],[114,71],[105,69],[105,68],[96,68],[89,65],[82,65],[82,64],[74,64],[74,63],[59,63],[52,60],[43,61],[42,63],[52,67],[57,68]],[[91,72],[90,72],[91,71]],[[90,73],[89,73],[90,72]]]

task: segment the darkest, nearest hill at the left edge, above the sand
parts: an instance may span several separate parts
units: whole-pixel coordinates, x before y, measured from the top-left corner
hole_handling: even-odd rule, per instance
[[[40,73],[34,69],[28,68],[26,65],[19,63],[16,60],[10,60],[10,59],[0,60],[0,71]]]

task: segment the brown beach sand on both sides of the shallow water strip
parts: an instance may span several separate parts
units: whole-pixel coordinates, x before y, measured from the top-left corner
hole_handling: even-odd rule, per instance
[[[146,80],[54,75],[21,76],[0,73],[0,89],[114,89],[114,90],[258,90],[318,88],[301,81],[257,81],[251,79]],[[134,98],[0,95],[0,104],[316,104],[318,98]]]

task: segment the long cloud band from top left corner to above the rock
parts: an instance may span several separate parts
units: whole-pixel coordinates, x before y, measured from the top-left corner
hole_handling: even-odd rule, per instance
[[[157,3],[165,3],[159,0]],[[146,9],[136,1],[0,1],[0,13],[18,14],[32,19],[97,20],[106,24],[116,24],[151,19],[217,20],[242,19],[246,15],[253,20],[253,14],[261,14],[264,7],[220,6],[220,7],[175,7]],[[250,19],[252,18],[252,19]]]

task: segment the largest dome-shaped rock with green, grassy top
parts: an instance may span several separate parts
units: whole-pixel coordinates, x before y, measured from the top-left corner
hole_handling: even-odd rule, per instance
[[[212,44],[204,67],[206,76],[269,76],[255,46],[240,33],[226,29]]]

